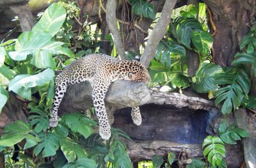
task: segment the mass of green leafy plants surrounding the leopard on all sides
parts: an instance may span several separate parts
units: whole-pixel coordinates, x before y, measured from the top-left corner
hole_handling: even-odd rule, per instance
[[[129,4],[135,15],[157,19],[154,7],[147,1],[130,0]],[[212,62],[212,35],[206,26],[205,4],[200,3],[198,8],[182,6],[172,15],[149,67],[150,86],[159,87],[161,91],[182,91],[191,86],[198,93],[213,93],[216,105],[221,105],[225,115],[241,105],[255,108],[255,98],[248,96],[250,68],[246,66],[250,64],[256,74],[255,27],[241,42],[241,52],[236,54],[232,66],[221,68]],[[8,91],[29,100],[30,122],[15,121],[4,128],[1,136],[0,151],[6,156],[6,166],[131,167],[120,137],[131,139],[121,130],[112,128],[111,139],[104,142],[97,134],[97,121],[82,113],[65,114],[60,125],[48,128],[54,70],[64,68],[81,56],[104,52],[99,47],[99,31],[86,20],[88,15],[84,15],[83,29],[72,31],[78,15],[79,8],[74,2],[51,4],[38,16],[40,20],[31,31],[0,44],[0,111],[8,101]],[[106,38],[111,40],[109,34]],[[195,75],[188,74],[188,52],[199,58]],[[223,160],[225,144],[235,144],[247,136],[234,123],[227,126],[223,121],[218,135],[207,136],[202,144],[207,162],[193,158],[187,167],[227,167]],[[19,153],[19,162],[10,158],[14,153]],[[174,160],[174,153],[168,153],[167,159],[157,155],[152,158],[154,167],[171,167]]]

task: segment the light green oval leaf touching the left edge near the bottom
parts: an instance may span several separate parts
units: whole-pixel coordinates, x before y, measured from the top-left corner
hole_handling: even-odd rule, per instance
[[[28,123],[15,121],[4,128],[3,135],[0,139],[1,146],[12,146],[22,141],[31,132]]]

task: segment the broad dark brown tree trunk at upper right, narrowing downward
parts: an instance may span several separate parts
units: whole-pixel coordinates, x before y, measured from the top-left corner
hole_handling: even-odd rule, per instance
[[[251,26],[250,10],[254,7],[253,1],[252,4],[237,0],[204,2],[212,11],[212,20],[216,26],[212,46],[214,62],[220,66],[230,66],[239,51],[239,43]],[[250,8],[246,9],[245,6]]]

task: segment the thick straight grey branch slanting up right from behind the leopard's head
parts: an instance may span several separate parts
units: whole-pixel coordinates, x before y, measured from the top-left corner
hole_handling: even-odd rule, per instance
[[[143,55],[141,56],[141,63],[146,67],[148,67],[151,59],[153,59],[153,57],[155,56],[158,43],[166,33],[166,29],[172,15],[172,10],[176,2],[177,0],[166,0],[164,3],[161,16],[157,21],[156,25],[154,26],[154,29],[148,38],[147,47],[145,48]]]

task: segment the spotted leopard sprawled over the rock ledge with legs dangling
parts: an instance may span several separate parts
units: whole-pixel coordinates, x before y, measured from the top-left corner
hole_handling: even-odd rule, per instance
[[[67,91],[67,87],[88,81],[92,86],[92,100],[99,123],[99,134],[102,139],[111,137],[111,127],[104,98],[108,88],[115,80],[132,80],[134,82],[150,82],[147,68],[138,61],[120,60],[106,54],[89,54],[76,59],[68,65],[55,80],[54,103],[51,109],[49,126],[58,125],[58,107]],[[141,125],[140,107],[132,107],[132,121]]]

